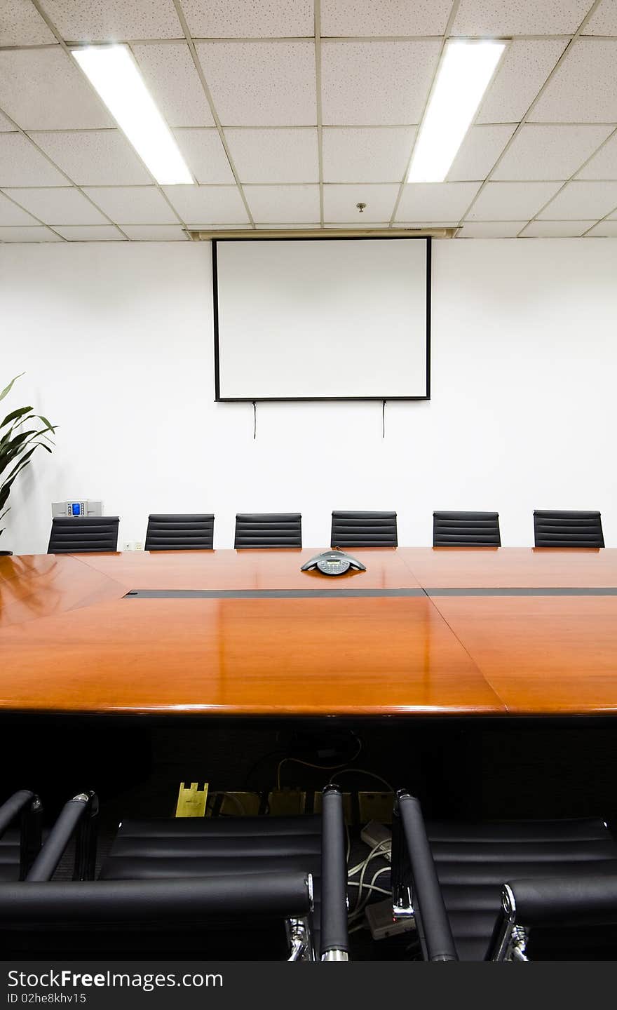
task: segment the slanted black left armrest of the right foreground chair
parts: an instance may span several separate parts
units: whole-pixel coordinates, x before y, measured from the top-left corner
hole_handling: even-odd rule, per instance
[[[398,816],[411,869],[413,912],[423,937],[426,958],[457,961],[456,946],[443,904],[419,800],[409,793],[400,792]],[[394,857],[393,849],[393,862]]]

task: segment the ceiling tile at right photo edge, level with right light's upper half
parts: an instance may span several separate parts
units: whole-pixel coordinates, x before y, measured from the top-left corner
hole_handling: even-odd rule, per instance
[[[534,105],[532,122],[617,122],[617,38],[579,38]]]

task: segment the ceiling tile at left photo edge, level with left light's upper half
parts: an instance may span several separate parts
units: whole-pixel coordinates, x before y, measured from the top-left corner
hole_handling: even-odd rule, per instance
[[[77,64],[60,46],[0,52],[0,106],[22,129],[114,125]]]

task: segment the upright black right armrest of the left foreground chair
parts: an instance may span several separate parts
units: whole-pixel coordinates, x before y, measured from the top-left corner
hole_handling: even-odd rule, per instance
[[[347,861],[342,793],[326,786],[321,807],[321,960],[347,961]]]

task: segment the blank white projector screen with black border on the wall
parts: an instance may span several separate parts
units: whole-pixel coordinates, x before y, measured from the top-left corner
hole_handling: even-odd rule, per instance
[[[424,238],[218,239],[217,400],[428,396]]]

